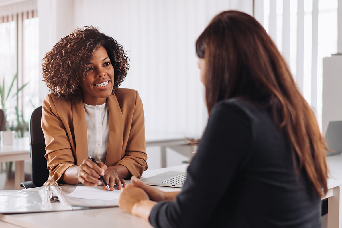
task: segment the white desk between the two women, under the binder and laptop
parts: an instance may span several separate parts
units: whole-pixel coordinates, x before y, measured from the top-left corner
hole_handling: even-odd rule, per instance
[[[332,177],[328,179],[329,198],[328,228],[340,228],[342,216],[342,155],[327,158]],[[156,175],[169,170],[185,171],[187,165],[167,167],[145,171],[142,177]],[[175,191],[177,188],[159,187],[163,191]],[[0,214],[0,227],[40,228],[40,227],[151,227],[143,219],[121,211],[119,208],[92,209],[67,212],[46,212],[30,214]]]

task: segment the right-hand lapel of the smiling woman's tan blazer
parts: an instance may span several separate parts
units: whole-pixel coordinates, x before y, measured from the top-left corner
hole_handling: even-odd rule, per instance
[[[115,95],[107,97],[109,113],[109,137],[106,165],[115,165],[121,160],[123,144],[123,116]]]

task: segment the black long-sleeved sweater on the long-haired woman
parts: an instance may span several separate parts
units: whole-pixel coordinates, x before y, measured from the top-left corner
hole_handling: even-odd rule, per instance
[[[153,226],[321,227],[321,200],[284,133],[239,98],[214,106],[187,173],[175,200],[153,207]]]

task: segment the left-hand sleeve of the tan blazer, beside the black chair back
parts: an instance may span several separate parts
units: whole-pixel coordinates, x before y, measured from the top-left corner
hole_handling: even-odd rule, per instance
[[[63,121],[50,95],[45,97],[42,110],[42,130],[45,137],[45,158],[52,180],[58,182],[65,170],[75,165],[70,140]]]

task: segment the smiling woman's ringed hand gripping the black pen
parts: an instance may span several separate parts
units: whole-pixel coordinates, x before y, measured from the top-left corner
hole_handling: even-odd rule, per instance
[[[77,179],[80,183],[88,186],[101,185],[102,182],[99,180],[100,175],[105,174],[107,166],[103,162],[98,161],[97,164],[92,162],[90,159],[84,159],[79,166],[77,172]]]

